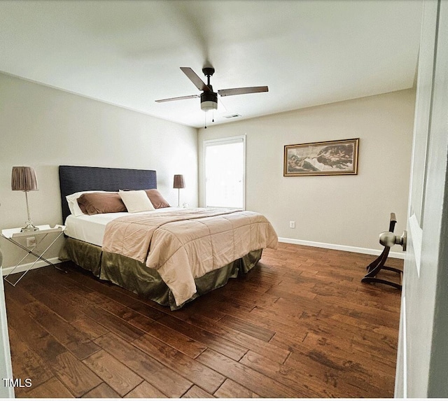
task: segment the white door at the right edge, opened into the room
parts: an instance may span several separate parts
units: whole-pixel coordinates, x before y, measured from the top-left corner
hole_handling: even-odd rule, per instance
[[[448,397],[448,1],[422,22],[397,398]]]

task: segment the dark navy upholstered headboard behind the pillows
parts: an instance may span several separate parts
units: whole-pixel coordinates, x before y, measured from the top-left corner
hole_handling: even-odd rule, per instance
[[[157,188],[154,170],[114,169],[108,167],[59,166],[62,221],[69,216],[65,197],[80,191],[150,190]]]

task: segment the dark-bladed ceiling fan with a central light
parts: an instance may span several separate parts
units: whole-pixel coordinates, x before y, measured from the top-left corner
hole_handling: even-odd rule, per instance
[[[234,94],[267,92],[267,86],[252,86],[252,87],[234,87],[232,89],[221,89],[214,92],[210,84],[210,77],[214,74],[215,69],[212,66],[207,66],[202,69],[204,76],[207,76],[207,84],[197,76],[197,73],[190,69],[190,67],[181,67],[183,73],[195,84],[197,89],[202,90],[202,94],[191,94],[190,96],[170,97],[169,99],[156,100],[158,103],[163,101],[192,99],[193,97],[201,98],[201,109],[203,111],[216,110],[218,108],[218,94],[220,96],[232,96]]]

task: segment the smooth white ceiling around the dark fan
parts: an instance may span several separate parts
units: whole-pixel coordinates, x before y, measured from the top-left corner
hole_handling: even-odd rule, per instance
[[[0,71],[202,127],[200,99],[155,102],[200,94],[179,67],[207,82],[211,64],[214,90],[269,87],[223,97],[214,124],[403,90],[421,10],[419,0],[1,0]]]

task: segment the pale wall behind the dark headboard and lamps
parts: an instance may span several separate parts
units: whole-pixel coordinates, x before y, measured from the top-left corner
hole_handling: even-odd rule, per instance
[[[59,164],[154,169],[173,205],[173,176],[184,174],[181,200],[197,206],[197,129],[1,73],[0,155],[1,229],[27,220],[25,194],[10,189],[11,169],[21,165],[38,178],[39,190],[28,195],[34,224],[62,223]],[[3,267],[15,265],[21,251],[0,241]]]

